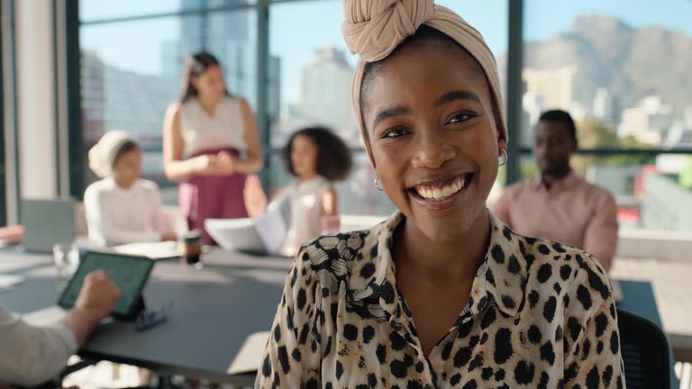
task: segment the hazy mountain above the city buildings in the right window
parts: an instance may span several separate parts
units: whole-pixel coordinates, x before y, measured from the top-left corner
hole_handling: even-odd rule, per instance
[[[498,59],[505,73],[505,57]],[[568,32],[524,44],[524,68],[576,66],[573,100],[590,107],[598,87],[622,108],[660,95],[679,114],[692,91],[692,37],[651,27],[635,29],[603,15],[578,16]]]

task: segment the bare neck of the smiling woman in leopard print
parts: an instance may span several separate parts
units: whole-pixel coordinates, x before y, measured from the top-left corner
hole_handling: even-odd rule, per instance
[[[443,282],[465,282],[476,276],[486,257],[490,241],[490,216],[487,210],[478,215],[469,231],[454,239],[433,241],[408,220],[398,232],[396,265],[407,271]]]

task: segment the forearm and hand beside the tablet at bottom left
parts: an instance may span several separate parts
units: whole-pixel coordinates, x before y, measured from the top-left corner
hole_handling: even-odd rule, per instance
[[[75,308],[54,325],[33,326],[0,308],[0,382],[30,386],[58,375],[119,298],[105,273],[95,272],[87,276]]]

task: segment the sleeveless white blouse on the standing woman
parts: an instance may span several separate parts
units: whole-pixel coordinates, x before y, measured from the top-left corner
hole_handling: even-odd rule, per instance
[[[180,131],[185,158],[208,149],[247,149],[241,100],[230,96],[216,104],[214,115],[206,113],[196,97],[181,104]]]

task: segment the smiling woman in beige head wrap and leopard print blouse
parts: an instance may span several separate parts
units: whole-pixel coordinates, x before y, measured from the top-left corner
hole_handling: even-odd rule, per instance
[[[354,108],[399,211],[301,250],[256,386],[622,387],[603,269],[486,208],[507,137],[483,38],[432,0],[363,1]]]

